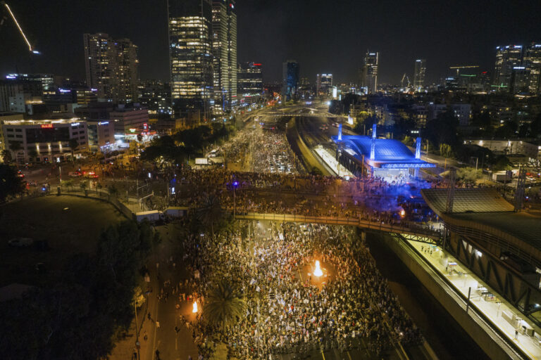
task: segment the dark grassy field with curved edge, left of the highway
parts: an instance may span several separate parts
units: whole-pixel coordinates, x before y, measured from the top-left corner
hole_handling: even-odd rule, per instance
[[[94,252],[101,230],[123,219],[108,203],[75,196],[25,199],[0,207],[0,286],[55,281],[68,257]],[[47,240],[50,249],[11,248],[8,240],[15,237]],[[39,262],[46,271],[35,269]]]

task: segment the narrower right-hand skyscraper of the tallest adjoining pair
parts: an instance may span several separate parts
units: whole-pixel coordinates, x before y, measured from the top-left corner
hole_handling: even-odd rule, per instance
[[[237,103],[237,10],[234,0],[212,3],[214,109],[231,110]]]

